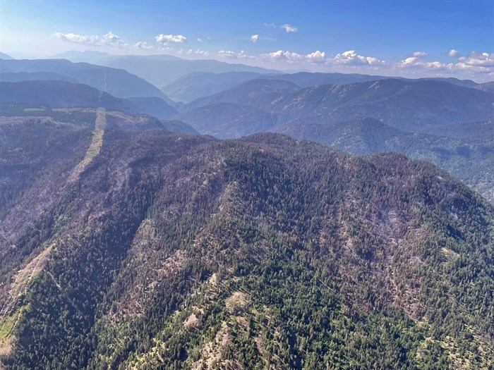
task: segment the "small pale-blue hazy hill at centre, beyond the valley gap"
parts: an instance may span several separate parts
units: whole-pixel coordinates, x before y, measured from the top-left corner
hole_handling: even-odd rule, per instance
[[[255,72],[192,73],[163,87],[162,92],[175,101],[190,103],[259,76],[262,75]]]

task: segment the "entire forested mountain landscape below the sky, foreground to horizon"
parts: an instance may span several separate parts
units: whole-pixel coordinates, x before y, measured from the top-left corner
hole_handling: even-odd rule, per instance
[[[0,367],[494,366],[492,84],[73,55],[0,61]]]

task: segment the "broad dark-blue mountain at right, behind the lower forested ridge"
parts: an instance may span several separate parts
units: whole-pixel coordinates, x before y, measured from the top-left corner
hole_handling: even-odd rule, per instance
[[[409,132],[492,117],[493,97],[433,80],[379,80],[308,87],[284,97],[275,111],[294,123],[330,123],[367,116]]]

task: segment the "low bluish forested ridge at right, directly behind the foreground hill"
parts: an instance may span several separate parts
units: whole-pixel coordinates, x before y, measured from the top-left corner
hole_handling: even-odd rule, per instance
[[[330,145],[350,154],[398,152],[430,161],[471,185],[494,203],[493,121],[440,126],[423,133],[404,132],[374,118],[337,123],[291,125],[282,133]]]

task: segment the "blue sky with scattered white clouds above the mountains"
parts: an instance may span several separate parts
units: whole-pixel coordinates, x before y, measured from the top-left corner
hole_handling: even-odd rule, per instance
[[[486,82],[494,0],[0,0],[0,51],[70,50]]]

